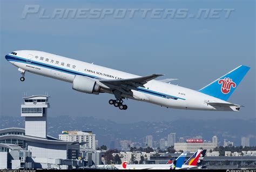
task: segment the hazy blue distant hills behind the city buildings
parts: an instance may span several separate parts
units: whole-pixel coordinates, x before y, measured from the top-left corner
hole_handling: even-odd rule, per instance
[[[24,118],[1,116],[0,128],[24,127]],[[221,120],[176,120],[147,122],[139,121],[131,124],[120,124],[111,120],[94,117],[58,116],[48,118],[48,134],[58,138],[58,134],[65,130],[92,131],[99,140],[99,145],[110,145],[111,141],[132,140],[143,142],[146,135],[153,135],[159,141],[167,134],[176,132],[180,137],[193,138],[200,135],[205,140],[211,140],[217,135],[220,145],[223,139],[233,141],[236,146],[241,145],[241,137],[251,137],[251,146],[256,145],[255,119],[221,119]]]

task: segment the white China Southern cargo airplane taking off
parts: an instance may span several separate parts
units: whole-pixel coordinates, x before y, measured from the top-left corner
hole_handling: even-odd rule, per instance
[[[175,109],[239,111],[241,105],[227,99],[250,69],[241,65],[206,87],[191,90],[167,83],[175,79],[154,80],[161,74],[142,77],[40,51],[15,51],[5,59],[21,71],[21,81],[25,80],[25,71],[29,71],[70,82],[74,90],[87,94],[107,92],[116,98],[109,103],[124,110],[127,105],[123,99],[131,98]]]

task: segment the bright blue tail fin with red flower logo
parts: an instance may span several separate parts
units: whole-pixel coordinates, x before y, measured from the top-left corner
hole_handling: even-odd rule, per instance
[[[206,85],[199,92],[227,101],[249,69],[250,67],[241,65]]]

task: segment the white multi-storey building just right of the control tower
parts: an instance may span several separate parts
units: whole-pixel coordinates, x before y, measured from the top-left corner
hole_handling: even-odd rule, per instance
[[[83,147],[95,150],[95,136],[92,131],[62,131],[59,140],[85,142]]]

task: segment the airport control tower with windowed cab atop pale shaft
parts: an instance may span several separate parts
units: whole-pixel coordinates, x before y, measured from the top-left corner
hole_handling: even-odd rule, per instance
[[[48,98],[45,95],[23,97],[21,116],[25,117],[25,135],[46,138]]]

